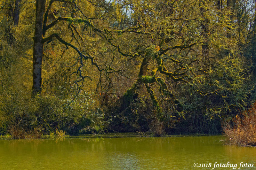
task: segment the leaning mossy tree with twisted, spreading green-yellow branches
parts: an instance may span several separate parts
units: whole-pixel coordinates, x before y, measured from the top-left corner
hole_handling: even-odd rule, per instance
[[[235,30],[230,20],[233,15],[229,15],[233,8],[222,10],[211,1],[181,3],[148,0],[143,4],[137,1],[129,3],[131,19],[137,20],[140,16],[137,25],[127,24],[122,30],[112,28],[106,31],[108,43],[116,47],[117,52],[127,58],[141,58],[142,61],[138,79],[122,98],[123,107],[136,101],[144,84],[161,120],[166,118],[166,111],[164,113],[162,108],[164,103],[172,106],[175,116],[181,117],[191,109],[195,111],[201,108],[205,115],[208,114],[205,119],[218,117],[227,108],[231,113],[246,106],[244,101],[249,102],[247,89],[242,92],[236,88],[244,83],[245,79],[239,76],[246,76],[242,71],[243,67],[246,70],[246,66],[244,64],[241,68],[231,69],[235,63],[243,61],[239,57],[233,34],[231,36]],[[223,8],[226,4],[220,2],[220,5]],[[126,35],[137,36],[138,39],[131,38],[129,41],[125,39]],[[237,76],[232,76],[230,80],[226,77],[226,81],[222,81],[226,73],[218,72],[227,68],[230,73],[225,76]],[[227,100],[223,94],[228,91],[234,91],[236,95],[242,92],[244,97]],[[210,99],[212,105],[195,106],[193,100],[199,98]],[[220,99],[221,106],[214,103],[213,98]],[[203,101],[200,99],[200,102]],[[232,107],[234,104],[238,108]]]

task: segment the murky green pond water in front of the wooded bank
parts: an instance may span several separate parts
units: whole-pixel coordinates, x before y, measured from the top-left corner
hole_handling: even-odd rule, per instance
[[[222,136],[0,140],[0,169],[212,169],[253,164],[256,147],[223,145]],[[194,163],[211,168],[195,168]],[[215,167],[214,169],[232,169]],[[248,169],[248,168],[240,168]]]

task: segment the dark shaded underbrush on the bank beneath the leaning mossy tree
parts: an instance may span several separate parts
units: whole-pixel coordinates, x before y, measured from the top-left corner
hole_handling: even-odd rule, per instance
[[[221,119],[205,120],[203,113],[198,111],[184,117],[175,112],[170,104],[163,104],[161,117],[156,108],[146,97],[139,98],[127,107],[122,108],[122,101],[116,101],[107,107],[105,128],[108,132],[139,132],[150,133],[152,136],[170,134],[219,134]]]

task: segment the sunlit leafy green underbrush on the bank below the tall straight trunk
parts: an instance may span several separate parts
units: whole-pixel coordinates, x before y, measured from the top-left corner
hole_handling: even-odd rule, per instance
[[[1,134],[24,139],[100,133],[104,114],[95,107],[91,95],[81,94],[71,102],[72,97],[3,95]]]

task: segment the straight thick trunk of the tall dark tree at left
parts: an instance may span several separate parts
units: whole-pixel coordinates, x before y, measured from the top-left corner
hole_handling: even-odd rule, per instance
[[[43,59],[43,20],[46,0],[36,1],[36,26],[33,48],[33,86],[32,96],[41,92],[42,85],[42,59]]]

